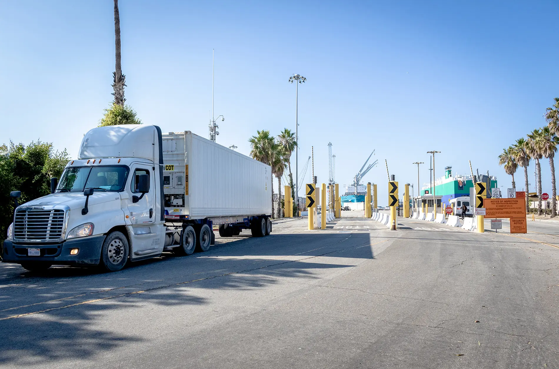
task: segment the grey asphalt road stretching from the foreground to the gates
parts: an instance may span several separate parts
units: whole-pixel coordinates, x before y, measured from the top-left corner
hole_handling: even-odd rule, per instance
[[[116,273],[2,263],[0,366],[559,367],[555,224],[524,235],[543,244],[342,214]]]

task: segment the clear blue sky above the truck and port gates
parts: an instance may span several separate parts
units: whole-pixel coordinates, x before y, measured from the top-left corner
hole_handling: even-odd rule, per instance
[[[489,170],[510,176],[501,150],[545,124],[559,96],[556,1],[183,2],[121,0],[125,97],[145,124],[207,137],[216,53],[217,142],[249,153],[257,129],[295,130],[299,73],[300,168],[315,147],[315,175],[349,183],[372,149],[397,180],[438,150],[437,177]],[[77,155],[111,102],[112,1],[0,1],[0,143],[41,139]],[[294,161],[294,160],[293,160]],[[293,165],[294,169],[295,165]],[[420,173],[428,182],[428,164]],[[529,168],[534,184],[534,165]],[[551,193],[547,160],[543,189]],[[309,181],[307,178],[302,183]],[[523,172],[515,176],[523,187]],[[277,181],[274,181],[277,186]],[[277,191],[277,190],[276,190]],[[533,191],[533,188],[530,188]]]

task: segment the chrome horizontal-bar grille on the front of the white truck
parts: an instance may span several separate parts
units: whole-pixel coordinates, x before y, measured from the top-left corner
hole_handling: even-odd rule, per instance
[[[13,222],[16,240],[58,240],[64,228],[64,210],[20,209]]]

